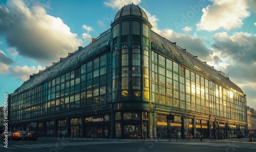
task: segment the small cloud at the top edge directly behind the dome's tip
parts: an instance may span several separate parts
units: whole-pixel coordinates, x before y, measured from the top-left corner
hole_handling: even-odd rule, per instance
[[[108,2],[104,2],[105,6],[108,6],[112,9],[121,9],[122,6],[124,5],[129,5],[129,4],[139,4],[141,0],[108,0]]]

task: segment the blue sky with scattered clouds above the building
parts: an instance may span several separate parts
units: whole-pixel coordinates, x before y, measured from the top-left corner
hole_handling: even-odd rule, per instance
[[[88,45],[131,3],[145,10],[153,31],[228,74],[256,109],[255,0],[0,0],[0,94]]]

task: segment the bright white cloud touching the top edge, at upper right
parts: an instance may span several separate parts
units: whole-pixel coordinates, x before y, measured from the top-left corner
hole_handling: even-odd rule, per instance
[[[201,21],[197,24],[199,30],[216,31],[220,28],[230,30],[240,28],[243,19],[250,15],[245,1],[213,1],[214,4],[203,8]]]

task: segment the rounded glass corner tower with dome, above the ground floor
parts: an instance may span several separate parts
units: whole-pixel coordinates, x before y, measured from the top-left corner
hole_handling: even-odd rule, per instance
[[[111,23],[113,101],[144,101],[149,96],[151,23],[138,5],[123,6]]]

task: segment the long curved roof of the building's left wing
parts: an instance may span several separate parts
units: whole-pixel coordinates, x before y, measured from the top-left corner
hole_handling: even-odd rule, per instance
[[[91,44],[82,49],[76,50],[72,55],[58,61],[55,65],[52,65],[42,72],[35,74],[33,78],[24,82],[18,89],[16,89],[14,93],[22,92],[32,86],[44,82],[45,80],[54,77],[58,73],[61,73],[69,68],[76,67],[76,65],[82,61],[103,52],[109,47],[110,36],[110,30],[106,31]]]

